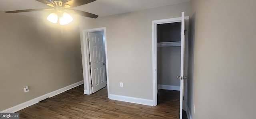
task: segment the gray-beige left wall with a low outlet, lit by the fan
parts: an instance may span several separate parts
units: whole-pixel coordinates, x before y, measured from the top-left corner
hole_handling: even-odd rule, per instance
[[[83,80],[78,25],[61,34],[17,14],[0,12],[0,21],[0,111]]]

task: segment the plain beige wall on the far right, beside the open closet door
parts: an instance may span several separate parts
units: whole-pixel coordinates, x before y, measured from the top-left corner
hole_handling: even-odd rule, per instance
[[[256,0],[191,0],[193,119],[256,119]]]

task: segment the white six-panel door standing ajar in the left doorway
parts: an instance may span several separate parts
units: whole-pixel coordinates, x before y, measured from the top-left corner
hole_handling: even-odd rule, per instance
[[[88,32],[92,93],[106,86],[106,71],[103,36]]]

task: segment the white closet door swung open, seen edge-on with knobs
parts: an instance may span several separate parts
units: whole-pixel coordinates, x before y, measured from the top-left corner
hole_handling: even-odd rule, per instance
[[[181,53],[180,53],[180,119],[182,119],[182,109],[183,109],[183,91],[184,91],[184,28],[185,28],[185,20],[184,20],[184,12],[182,12],[181,16]]]

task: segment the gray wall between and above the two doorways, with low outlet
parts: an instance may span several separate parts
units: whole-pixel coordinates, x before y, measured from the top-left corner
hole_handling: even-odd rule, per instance
[[[110,94],[153,99],[152,20],[181,17],[190,2],[97,19],[82,18],[83,29],[106,27]],[[124,87],[120,87],[123,82]]]

